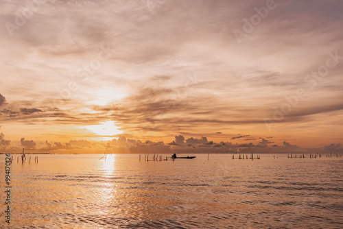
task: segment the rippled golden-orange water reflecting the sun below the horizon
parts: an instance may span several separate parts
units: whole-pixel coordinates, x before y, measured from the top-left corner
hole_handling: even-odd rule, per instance
[[[38,155],[37,164],[27,154],[22,165],[12,155],[10,226],[0,155],[5,228],[343,228],[336,156],[147,162],[144,154],[55,154]]]

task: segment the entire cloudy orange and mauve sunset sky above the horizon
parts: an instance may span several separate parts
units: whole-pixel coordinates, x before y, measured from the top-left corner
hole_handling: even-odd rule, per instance
[[[343,152],[343,1],[0,4],[1,152]]]

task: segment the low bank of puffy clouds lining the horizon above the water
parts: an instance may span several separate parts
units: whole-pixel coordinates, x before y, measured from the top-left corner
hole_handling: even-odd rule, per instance
[[[269,137],[270,138],[270,137]],[[206,137],[201,138],[185,138],[182,135],[175,136],[175,140],[171,143],[163,141],[141,141],[126,136],[119,136],[110,141],[87,141],[87,140],[71,140],[67,143],[61,142],[35,142],[33,140],[25,140],[21,138],[20,145],[4,139],[4,134],[0,134],[0,150],[3,152],[19,153],[21,147],[24,147],[28,152],[48,152],[48,153],[127,153],[127,154],[171,154],[171,153],[187,153],[187,154],[343,154],[343,147],[340,143],[331,143],[319,148],[301,148],[298,145],[292,145],[283,141],[282,145],[273,144],[265,138],[257,138],[257,143],[231,143],[220,141],[216,143],[209,141]]]

